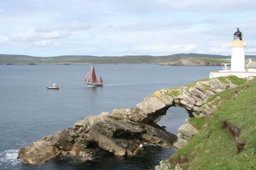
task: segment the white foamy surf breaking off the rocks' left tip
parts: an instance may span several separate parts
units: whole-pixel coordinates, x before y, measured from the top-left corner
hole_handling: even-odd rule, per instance
[[[21,165],[21,160],[17,159],[18,149],[10,149],[0,152],[0,169],[19,169]]]

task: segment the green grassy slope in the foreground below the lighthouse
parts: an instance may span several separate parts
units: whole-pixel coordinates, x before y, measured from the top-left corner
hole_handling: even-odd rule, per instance
[[[256,78],[212,98],[216,96],[220,96],[222,102],[214,114],[190,119],[200,130],[199,134],[168,160],[173,163],[172,167],[176,165],[174,160],[187,159],[182,163],[184,169],[256,169]],[[223,120],[241,129],[237,141],[246,142],[243,152],[237,153],[229,130],[221,128]],[[203,124],[208,127],[202,129]],[[209,131],[212,134],[208,138]]]

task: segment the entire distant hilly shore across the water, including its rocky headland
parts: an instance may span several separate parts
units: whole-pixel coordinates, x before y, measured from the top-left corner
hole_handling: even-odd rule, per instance
[[[256,55],[246,58],[256,60]],[[212,54],[173,54],[163,56],[124,55],[124,56],[93,56],[93,55],[61,55],[61,56],[29,56],[0,54],[0,64],[5,65],[65,65],[65,64],[163,64],[163,65],[220,65],[230,62],[230,55]],[[188,62],[188,61],[189,62]]]

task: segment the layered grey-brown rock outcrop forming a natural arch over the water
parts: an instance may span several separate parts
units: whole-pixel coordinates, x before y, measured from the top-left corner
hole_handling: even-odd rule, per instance
[[[179,88],[162,89],[144,98],[135,109],[114,109],[99,116],[88,116],[74,127],[45,136],[25,148],[19,156],[23,162],[38,165],[60,154],[82,156],[104,149],[118,156],[137,154],[141,143],[177,148],[197,133],[190,124],[179,129],[178,138],[156,124],[171,106],[185,108],[191,117],[204,116],[215,105],[204,102],[225,89],[235,87],[228,78],[205,79]],[[172,121],[172,120],[170,120]],[[182,142],[181,142],[182,141]],[[177,144],[178,142],[178,144]]]

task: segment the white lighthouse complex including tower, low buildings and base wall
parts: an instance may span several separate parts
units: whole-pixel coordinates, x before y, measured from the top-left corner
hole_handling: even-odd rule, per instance
[[[234,40],[231,42],[231,67],[228,70],[230,64],[222,64],[224,70],[218,72],[210,72],[210,78],[224,77],[228,75],[236,75],[240,78],[246,78],[249,76],[256,76],[256,62],[251,62],[245,67],[245,47],[246,43],[242,40],[242,33],[239,28],[234,33]],[[253,64],[255,63],[255,64]],[[252,68],[253,67],[253,68]]]

